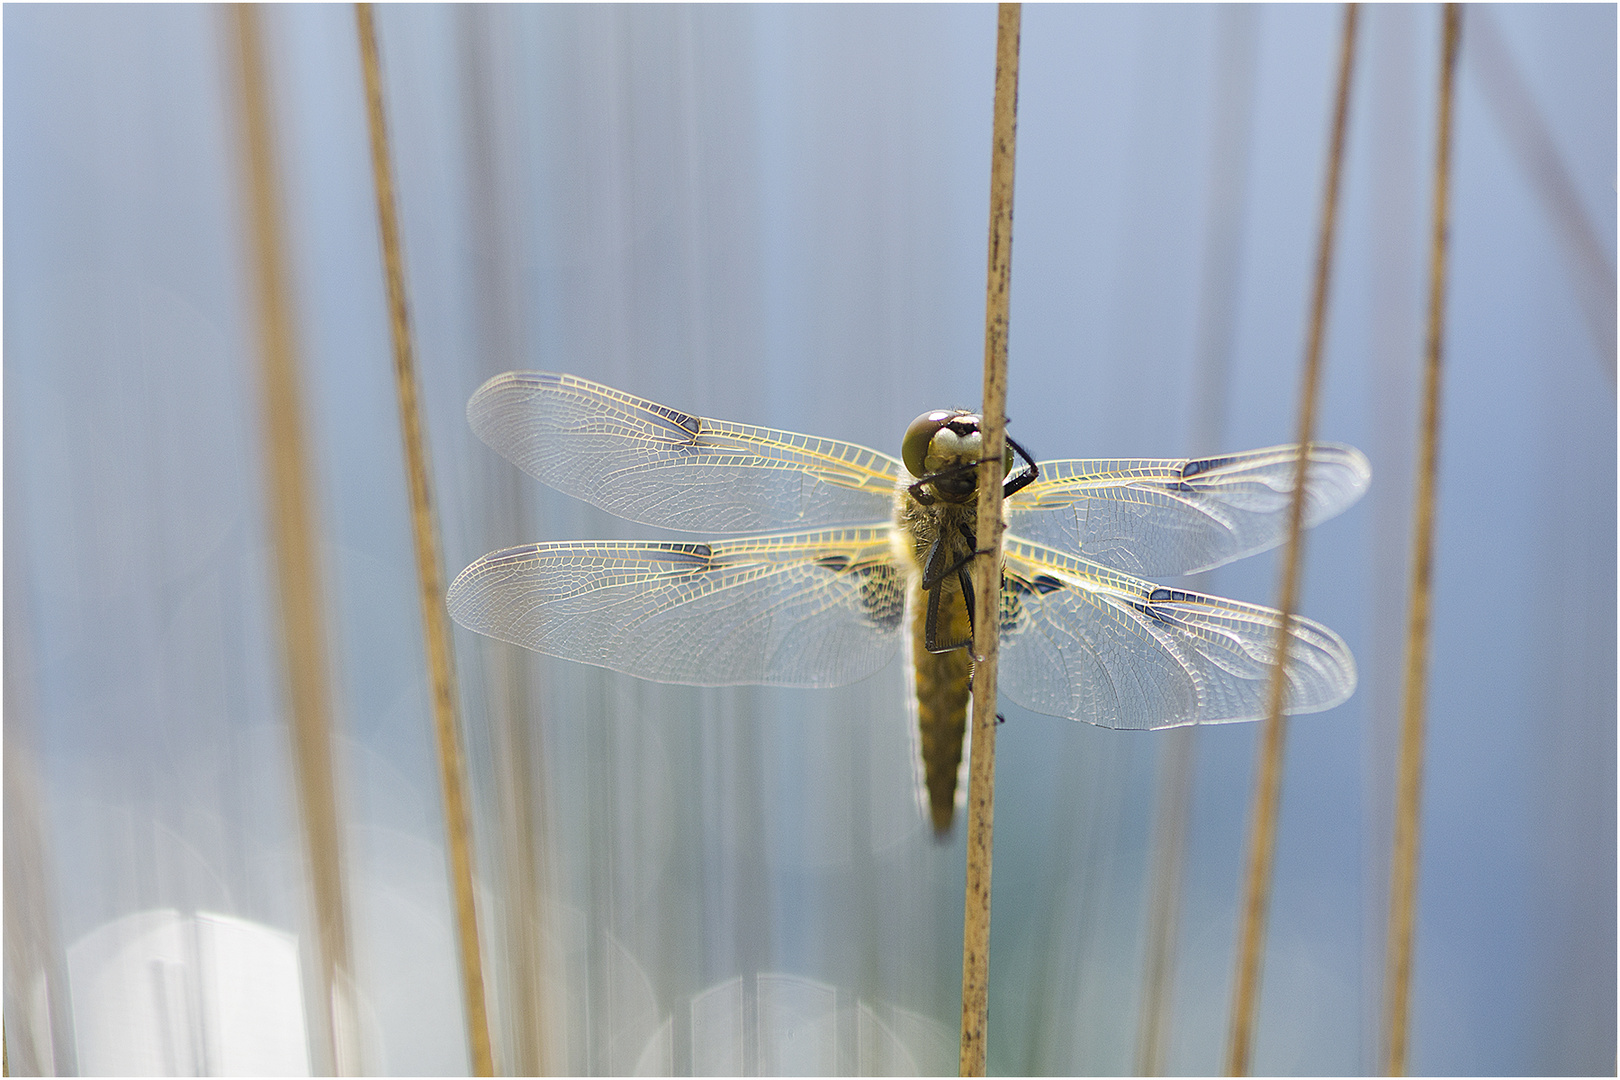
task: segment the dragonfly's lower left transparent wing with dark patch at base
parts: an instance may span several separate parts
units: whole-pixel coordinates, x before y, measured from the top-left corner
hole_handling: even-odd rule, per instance
[[[536,653],[695,687],[842,687],[899,644],[889,528],[713,544],[585,541],[484,555],[450,615]]]

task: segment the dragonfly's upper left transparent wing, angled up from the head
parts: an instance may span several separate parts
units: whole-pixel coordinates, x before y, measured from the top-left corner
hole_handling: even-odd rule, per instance
[[[573,376],[496,376],[467,419],[564,494],[695,533],[880,521],[901,474],[897,460],[850,442],[692,416]]]

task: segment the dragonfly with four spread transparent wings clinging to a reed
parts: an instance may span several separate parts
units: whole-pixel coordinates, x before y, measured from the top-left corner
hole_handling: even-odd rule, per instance
[[[901,457],[734,424],[569,374],[507,372],[473,431],[535,479],[643,525],[721,539],[561,541],[491,552],[450,586],[468,630],[638,678],[842,687],[907,656],[933,827],[951,829],[972,695],[980,418],[935,410]],[[1296,447],[1183,460],[1003,461],[1001,693],[1111,729],[1265,712],[1280,614],[1155,585],[1275,547]],[[1312,444],[1304,523],[1371,483]],[[731,536],[726,536],[731,534]],[[1356,687],[1345,641],[1290,620],[1288,712]]]

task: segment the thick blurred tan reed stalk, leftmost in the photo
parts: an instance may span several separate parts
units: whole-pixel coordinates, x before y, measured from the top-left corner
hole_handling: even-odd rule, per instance
[[[348,946],[348,912],[337,790],[332,771],[332,708],[327,687],[324,599],[321,591],[303,390],[293,335],[292,290],[284,244],[280,176],[271,120],[269,76],[259,8],[232,5],[245,206],[251,280],[256,288],[264,393],[264,458],[271,487],[271,533],[280,593],[282,654],[292,711],[298,805],[314,892],[316,950],[324,1017],[311,1027],[335,1074],[360,1072],[358,1015]]]

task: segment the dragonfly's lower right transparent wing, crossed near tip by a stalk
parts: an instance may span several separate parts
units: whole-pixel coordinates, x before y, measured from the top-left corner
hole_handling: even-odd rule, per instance
[[[1278,614],[1163,589],[1082,559],[1006,541],[1000,687],[1037,712],[1102,727],[1252,721],[1265,712]],[[1319,712],[1356,688],[1349,648],[1293,620],[1288,712]]]

